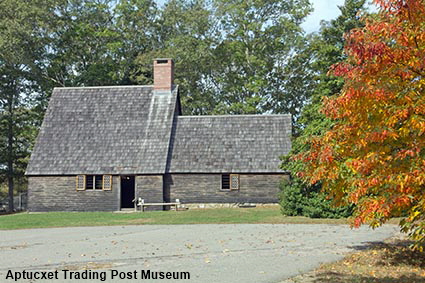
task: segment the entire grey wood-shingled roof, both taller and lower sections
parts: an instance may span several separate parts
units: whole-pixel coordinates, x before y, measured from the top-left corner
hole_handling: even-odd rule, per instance
[[[55,88],[26,174],[282,173],[290,115],[180,114],[177,87]]]

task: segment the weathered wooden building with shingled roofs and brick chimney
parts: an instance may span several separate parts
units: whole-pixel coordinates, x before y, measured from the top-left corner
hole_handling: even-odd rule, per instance
[[[26,172],[28,208],[276,203],[290,136],[290,115],[182,115],[173,62],[157,59],[153,86],[54,89]]]

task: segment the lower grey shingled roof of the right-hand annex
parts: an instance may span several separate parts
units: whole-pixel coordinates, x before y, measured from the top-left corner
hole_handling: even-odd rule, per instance
[[[282,173],[290,115],[178,116],[169,173]]]

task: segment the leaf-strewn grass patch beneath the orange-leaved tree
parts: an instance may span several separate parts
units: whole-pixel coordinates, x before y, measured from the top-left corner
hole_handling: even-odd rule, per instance
[[[424,283],[425,252],[411,250],[411,244],[405,236],[393,237],[285,282]]]

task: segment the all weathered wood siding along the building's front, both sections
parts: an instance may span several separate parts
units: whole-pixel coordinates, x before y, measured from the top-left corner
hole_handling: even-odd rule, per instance
[[[76,191],[75,176],[28,177],[29,211],[120,210],[120,177],[113,176],[111,191]],[[135,196],[146,202],[276,203],[283,174],[240,174],[239,191],[221,190],[221,174],[139,175]],[[165,183],[164,183],[165,180]],[[161,206],[149,210],[162,210]]]

